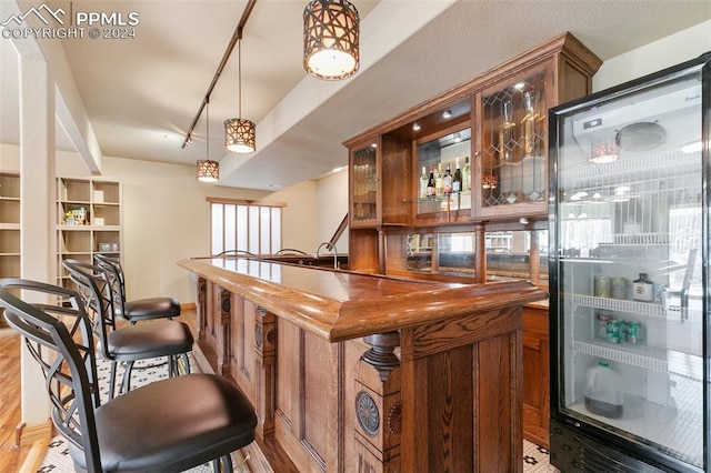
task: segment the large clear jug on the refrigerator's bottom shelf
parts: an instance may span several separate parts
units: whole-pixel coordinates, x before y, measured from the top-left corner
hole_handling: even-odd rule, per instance
[[[585,409],[593,414],[618,419],[622,415],[624,392],[622,376],[607,361],[588,369]]]

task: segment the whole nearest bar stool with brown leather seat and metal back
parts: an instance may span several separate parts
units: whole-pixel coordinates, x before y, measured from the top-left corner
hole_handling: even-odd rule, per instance
[[[30,304],[22,296],[57,304]],[[98,386],[92,321],[70,289],[0,280],[0,306],[47,380],[51,419],[69,442],[76,471],[179,472],[203,463],[232,471],[230,453],[254,440],[244,395],[214,374],[157,381],[107,403]],[[198,396],[196,397],[196,394]]]

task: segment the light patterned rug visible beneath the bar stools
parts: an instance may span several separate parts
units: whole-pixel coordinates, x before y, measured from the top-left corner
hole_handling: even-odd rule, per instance
[[[99,376],[99,391],[101,393],[102,402],[109,399],[109,372],[111,364],[109,362],[97,360],[97,374]],[[118,370],[119,375],[117,386],[120,385],[122,378],[122,370]],[[190,372],[199,373],[200,366],[194,360],[194,356],[190,354]],[[142,360],[137,362],[133,366],[133,373],[131,378],[131,389],[136,389],[153,381],[168,378],[168,366],[166,359],[152,359]],[[117,388],[118,389],[118,388]],[[242,466],[243,459],[239,453],[232,454],[232,463],[234,464],[234,472],[249,473],[249,469]],[[74,465],[69,455],[69,449],[67,441],[61,435],[54,436],[47,447],[42,463],[37,470],[38,473],[73,473]],[[211,464],[200,465],[192,470],[190,473],[209,473],[212,472]]]

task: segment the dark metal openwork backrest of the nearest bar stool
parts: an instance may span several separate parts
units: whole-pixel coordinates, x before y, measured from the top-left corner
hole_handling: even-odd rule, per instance
[[[10,290],[22,290],[27,301]],[[24,338],[30,354],[42,369],[52,404],[52,423],[84,452],[89,471],[101,471],[93,410],[100,405],[91,321],[80,296],[70,289],[23,279],[0,280],[4,319]]]

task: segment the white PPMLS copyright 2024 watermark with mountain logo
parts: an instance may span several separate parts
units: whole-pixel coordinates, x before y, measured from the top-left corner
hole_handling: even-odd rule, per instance
[[[30,7],[24,13],[0,19],[2,38],[6,39],[131,39],[140,23],[138,11],[69,11],[62,7],[53,10],[47,3]],[[42,27],[32,27],[28,19],[39,21]]]

